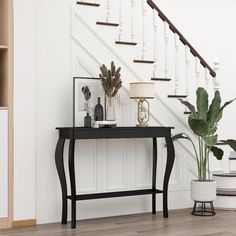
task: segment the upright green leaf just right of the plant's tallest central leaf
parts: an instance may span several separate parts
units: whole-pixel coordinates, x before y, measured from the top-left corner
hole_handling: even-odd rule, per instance
[[[212,100],[212,103],[209,107],[209,111],[207,113],[207,123],[209,128],[213,128],[217,123],[217,117],[219,114],[220,105],[221,105],[220,92],[216,91],[215,97]]]

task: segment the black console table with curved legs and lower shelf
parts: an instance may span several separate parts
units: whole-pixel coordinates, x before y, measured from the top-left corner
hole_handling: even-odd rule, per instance
[[[118,128],[57,128],[59,140],[56,146],[55,161],[62,189],[62,224],[67,224],[67,203],[71,200],[71,228],[76,228],[76,201],[98,198],[126,197],[136,195],[152,195],[152,213],[156,213],[156,194],[163,193],[163,217],[168,218],[168,184],[175,160],[175,150],[171,139],[172,127],[118,127]],[[76,194],[74,150],[75,140],[79,139],[128,139],[152,138],[153,140],[153,171],[152,188],[120,192],[94,194]],[[164,175],[163,190],[156,188],[157,171],[157,138],[165,138],[167,147],[167,163]],[[69,139],[69,176],[71,195],[67,195],[67,184],[63,151],[65,140]]]

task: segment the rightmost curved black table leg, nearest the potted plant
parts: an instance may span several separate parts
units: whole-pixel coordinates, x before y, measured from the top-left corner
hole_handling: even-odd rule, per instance
[[[163,216],[164,218],[168,218],[168,185],[175,161],[175,149],[171,136],[166,137],[165,140],[167,146],[167,162],[163,183]]]

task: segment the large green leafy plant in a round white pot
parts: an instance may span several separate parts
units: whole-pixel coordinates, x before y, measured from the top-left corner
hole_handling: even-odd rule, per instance
[[[197,137],[198,143],[186,133],[174,135],[173,141],[185,139],[190,141],[193,146],[195,159],[198,168],[198,179],[191,182],[191,198],[197,202],[211,202],[216,199],[216,182],[211,179],[209,169],[210,154],[213,154],[218,160],[221,160],[224,151],[217,146],[218,142],[218,123],[222,118],[223,110],[235,99],[226,102],[221,106],[220,92],[216,91],[214,98],[209,106],[208,93],[204,88],[197,89],[196,107],[180,99],[189,111],[188,125]],[[229,145],[236,151],[235,140],[221,141]]]

